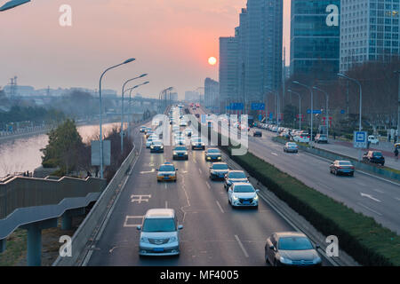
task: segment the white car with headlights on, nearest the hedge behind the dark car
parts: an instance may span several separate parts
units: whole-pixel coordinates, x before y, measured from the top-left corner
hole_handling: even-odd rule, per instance
[[[259,207],[260,190],[255,190],[251,183],[234,183],[228,189],[228,203],[232,208]]]

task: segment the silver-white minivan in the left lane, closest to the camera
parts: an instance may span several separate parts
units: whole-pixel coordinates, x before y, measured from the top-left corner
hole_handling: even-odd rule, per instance
[[[140,256],[179,256],[180,230],[174,209],[148,209],[140,231]]]

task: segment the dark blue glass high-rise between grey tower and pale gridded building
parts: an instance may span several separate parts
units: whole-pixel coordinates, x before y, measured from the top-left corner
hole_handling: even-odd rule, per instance
[[[340,28],[327,24],[329,5],[339,12],[340,0],[292,0],[291,75],[330,78],[338,73]]]

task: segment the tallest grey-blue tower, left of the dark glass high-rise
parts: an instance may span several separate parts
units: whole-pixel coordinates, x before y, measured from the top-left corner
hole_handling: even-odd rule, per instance
[[[283,0],[248,0],[237,32],[239,93],[249,106],[282,83]]]

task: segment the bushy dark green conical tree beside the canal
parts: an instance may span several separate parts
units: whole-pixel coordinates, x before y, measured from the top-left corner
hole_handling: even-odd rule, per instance
[[[68,119],[48,135],[49,144],[41,149],[44,167],[58,166],[63,173],[68,173],[87,162],[87,149],[74,121]]]

